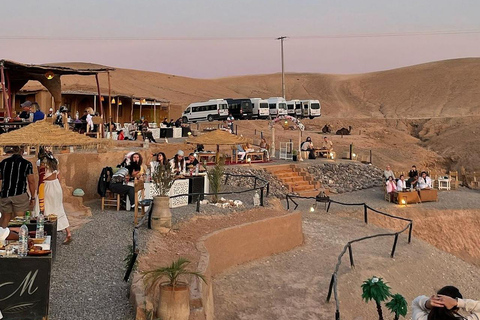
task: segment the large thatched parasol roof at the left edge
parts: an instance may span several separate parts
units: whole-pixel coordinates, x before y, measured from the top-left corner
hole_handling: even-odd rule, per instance
[[[21,129],[0,135],[0,147],[5,146],[81,146],[96,147],[109,144],[107,139],[93,139],[67,131],[47,121],[37,121]]]

